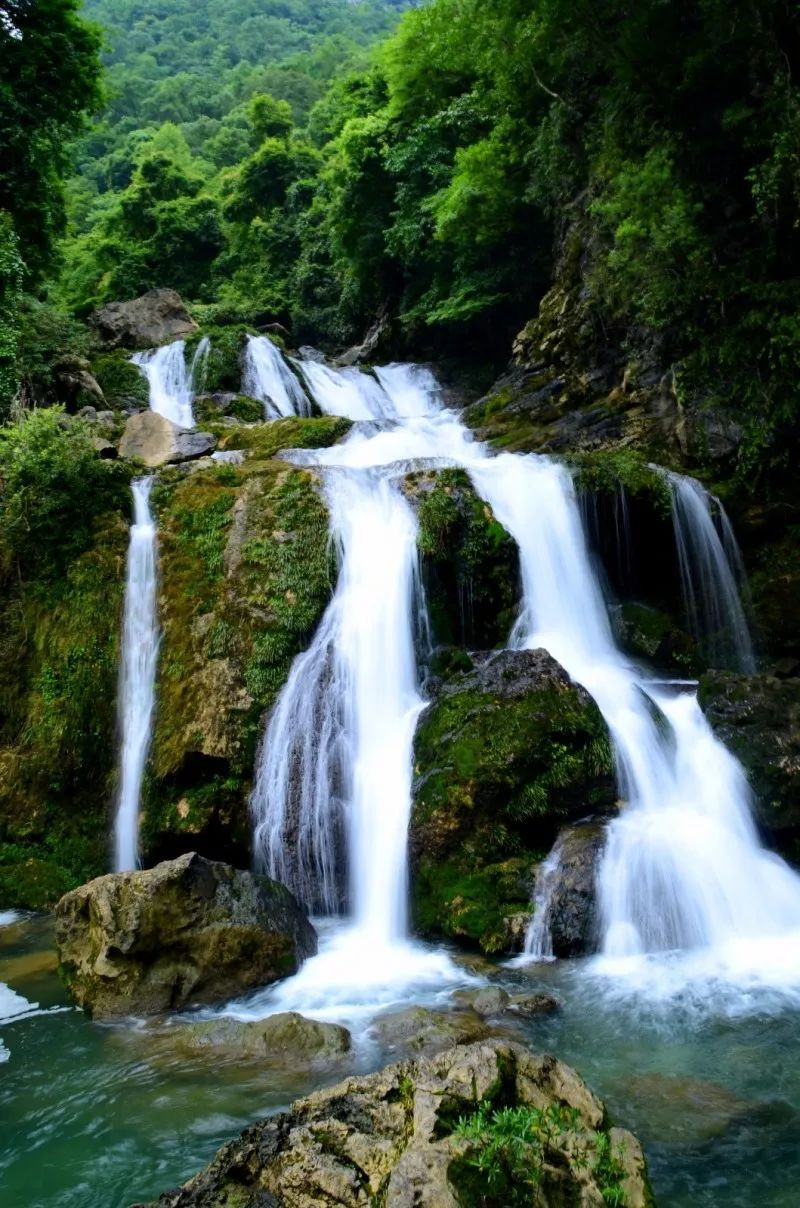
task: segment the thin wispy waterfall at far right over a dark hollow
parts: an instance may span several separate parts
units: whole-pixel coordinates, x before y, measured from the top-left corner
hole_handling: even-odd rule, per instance
[[[691,629],[715,666],[753,673],[755,660],[738,591],[742,558],[725,509],[695,478],[668,474],[667,481]]]

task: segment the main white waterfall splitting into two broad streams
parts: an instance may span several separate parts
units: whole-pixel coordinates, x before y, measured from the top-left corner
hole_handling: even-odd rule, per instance
[[[747,966],[752,981],[769,982],[775,960],[765,964],[759,951],[785,940],[800,986],[800,878],[760,846],[742,769],[714,738],[691,686],[650,680],[618,650],[568,470],[546,457],[489,457],[441,407],[424,370],[389,366],[358,382],[353,370],[302,368],[320,411],[352,407],[353,418],[370,422],[331,449],[295,455],[325,467],[341,575],[274,710],[253,806],[266,866],[318,908],[341,905],[335,869],[337,854],[348,852],[349,936],[358,934],[360,947],[329,945],[268,995],[271,1009],[319,1009],[348,981],[348,962],[360,959],[359,976],[369,980],[402,942],[411,751],[422,702],[412,650],[415,522],[395,483],[421,464],[469,472],[520,547],[522,606],[510,645],[546,649],[608,724],[624,808],[608,829],[599,871],[597,969],[640,983],[643,960],[683,952],[691,953],[686,977],[696,978],[697,968],[719,977],[724,966],[741,981]],[[701,525],[706,564],[720,567],[705,521],[692,516],[682,521],[684,539],[691,530],[691,540],[701,540]],[[713,590],[725,596],[724,576]],[[741,945],[753,937],[759,945],[744,957]],[[546,937],[537,953],[546,956]],[[700,962],[697,953],[705,953]]]

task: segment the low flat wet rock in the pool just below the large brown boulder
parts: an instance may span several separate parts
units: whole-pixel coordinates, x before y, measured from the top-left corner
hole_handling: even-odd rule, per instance
[[[266,1020],[199,1020],[178,1023],[162,1036],[184,1052],[208,1051],[226,1056],[307,1065],[324,1065],[350,1051],[350,1034],[337,1023],[307,1020],[295,1011]]]

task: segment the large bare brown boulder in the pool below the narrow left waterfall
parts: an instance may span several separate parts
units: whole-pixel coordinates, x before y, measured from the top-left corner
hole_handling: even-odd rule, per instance
[[[56,907],[60,972],[97,1018],[216,1003],[292,974],[317,934],[283,885],[189,853]]]

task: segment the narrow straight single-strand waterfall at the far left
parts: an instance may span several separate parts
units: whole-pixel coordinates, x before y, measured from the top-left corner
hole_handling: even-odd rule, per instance
[[[156,525],[150,512],[152,483],[152,477],[133,483],[134,518],[120,668],[120,791],[114,824],[116,872],[139,866],[139,797],[152,734],[158,660]]]

